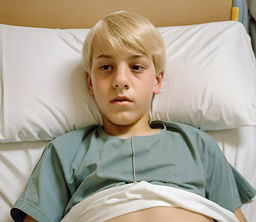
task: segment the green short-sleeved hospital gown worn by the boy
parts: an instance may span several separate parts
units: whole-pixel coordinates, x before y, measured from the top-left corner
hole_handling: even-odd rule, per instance
[[[106,135],[103,126],[89,126],[50,142],[11,210],[13,219],[29,214],[40,222],[60,221],[86,197],[133,183],[134,175],[138,182],[197,193],[232,212],[254,197],[256,190],[211,136],[180,123],[150,126],[162,130],[121,139]]]

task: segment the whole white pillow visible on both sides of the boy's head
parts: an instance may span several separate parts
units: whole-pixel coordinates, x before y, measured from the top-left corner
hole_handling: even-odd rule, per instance
[[[83,70],[81,50],[89,29],[0,27],[0,142],[52,140],[103,124]],[[150,120],[201,130],[256,125],[255,59],[241,23],[159,31],[167,44],[167,69]]]

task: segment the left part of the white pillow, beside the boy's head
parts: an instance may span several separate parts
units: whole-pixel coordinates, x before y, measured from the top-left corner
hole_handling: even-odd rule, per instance
[[[101,123],[82,64],[89,29],[1,28],[1,142],[52,140]]]

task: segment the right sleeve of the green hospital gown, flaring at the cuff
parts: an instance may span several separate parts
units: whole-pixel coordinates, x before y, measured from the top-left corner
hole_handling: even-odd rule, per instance
[[[234,213],[241,204],[255,196],[256,190],[227,162],[217,143],[214,152],[208,156],[208,162],[207,199]]]

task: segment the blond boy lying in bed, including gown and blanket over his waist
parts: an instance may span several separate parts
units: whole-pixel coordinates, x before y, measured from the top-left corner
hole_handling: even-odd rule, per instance
[[[86,37],[83,62],[103,126],[46,146],[12,208],[15,221],[246,221],[239,207],[256,190],[217,143],[191,126],[148,122],[165,49],[147,19],[103,18]]]

